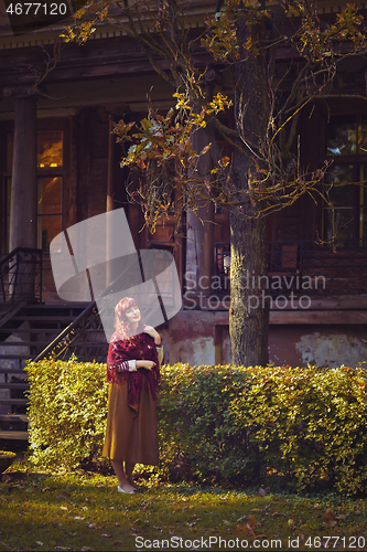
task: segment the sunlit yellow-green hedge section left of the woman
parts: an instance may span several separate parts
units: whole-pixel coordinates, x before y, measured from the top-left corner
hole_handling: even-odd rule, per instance
[[[55,470],[77,468],[102,447],[106,365],[42,360],[30,362],[26,370],[32,463]]]

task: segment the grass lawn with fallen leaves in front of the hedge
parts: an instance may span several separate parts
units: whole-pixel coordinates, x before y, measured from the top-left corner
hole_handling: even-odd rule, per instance
[[[367,550],[367,499],[272,493],[12,466],[0,482],[2,550]],[[327,540],[328,539],[328,540]]]

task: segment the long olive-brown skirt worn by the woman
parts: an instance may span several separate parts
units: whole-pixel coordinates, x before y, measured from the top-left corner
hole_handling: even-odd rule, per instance
[[[132,406],[128,405],[128,384],[110,384],[102,456],[158,466],[156,402],[144,384]]]

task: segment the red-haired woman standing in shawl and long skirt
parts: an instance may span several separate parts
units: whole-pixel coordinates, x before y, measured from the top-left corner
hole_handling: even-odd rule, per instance
[[[158,331],[142,325],[130,297],[115,307],[115,329],[107,355],[111,385],[102,456],[111,460],[118,491],[134,492],[134,465],[159,464],[155,407],[163,348]]]

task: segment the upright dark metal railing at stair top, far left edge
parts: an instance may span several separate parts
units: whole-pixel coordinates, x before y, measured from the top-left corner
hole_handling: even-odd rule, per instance
[[[15,247],[0,259],[0,307],[42,300],[42,250]]]

